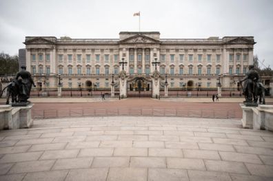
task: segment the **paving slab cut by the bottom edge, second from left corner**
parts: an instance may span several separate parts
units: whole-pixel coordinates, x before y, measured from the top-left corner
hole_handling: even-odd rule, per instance
[[[68,171],[42,171],[26,174],[23,181],[63,181]]]

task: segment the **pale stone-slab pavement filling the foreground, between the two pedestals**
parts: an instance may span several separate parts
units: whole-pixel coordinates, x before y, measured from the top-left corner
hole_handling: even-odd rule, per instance
[[[273,180],[273,134],[239,120],[92,117],[0,131],[0,180]]]

